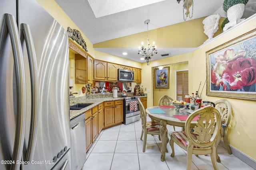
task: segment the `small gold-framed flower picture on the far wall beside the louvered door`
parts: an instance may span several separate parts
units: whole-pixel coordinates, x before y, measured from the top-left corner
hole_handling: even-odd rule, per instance
[[[164,67],[162,70],[155,69],[154,84],[155,88],[169,88],[170,67]]]

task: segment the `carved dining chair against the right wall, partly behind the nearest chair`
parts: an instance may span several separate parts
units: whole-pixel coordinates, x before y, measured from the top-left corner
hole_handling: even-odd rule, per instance
[[[231,115],[232,115],[232,108],[228,100],[221,99],[214,102],[215,108],[220,112],[221,121],[222,121],[222,128],[224,133],[222,133],[224,144],[226,149],[228,150],[228,154],[232,154],[230,147],[228,145],[228,124],[230,123]]]

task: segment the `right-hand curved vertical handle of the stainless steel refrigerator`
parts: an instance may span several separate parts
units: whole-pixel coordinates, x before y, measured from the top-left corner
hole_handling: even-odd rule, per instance
[[[21,42],[25,39],[26,47],[28,51],[28,62],[30,67],[30,82],[31,82],[31,121],[30,121],[30,133],[28,139],[28,149],[26,151],[25,161],[31,161],[34,157],[36,147],[36,135],[38,127],[38,72],[36,63],[36,50],[32,39],[32,33],[28,24],[21,24]]]

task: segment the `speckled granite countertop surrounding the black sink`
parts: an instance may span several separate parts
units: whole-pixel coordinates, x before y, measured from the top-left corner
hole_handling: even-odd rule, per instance
[[[92,109],[93,107],[97,106],[98,104],[101,104],[102,102],[108,102],[108,101],[114,101],[114,100],[122,100],[123,98],[98,98],[98,99],[87,99],[84,100],[83,102],[79,103],[73,103],[70,104],[70,106],[75,105],[75,104],[87,104],[87,103],[92,103],[90,106],[84,107],[83,109],[80,110],[70,110],[70,120],[81,115],[82,113]]]

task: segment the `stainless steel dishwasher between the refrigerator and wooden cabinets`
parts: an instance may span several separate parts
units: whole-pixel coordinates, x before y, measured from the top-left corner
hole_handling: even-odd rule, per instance
[[[86,160],[85,114],[70,120],[71,169],[81,170]]]

